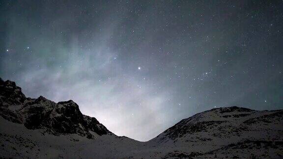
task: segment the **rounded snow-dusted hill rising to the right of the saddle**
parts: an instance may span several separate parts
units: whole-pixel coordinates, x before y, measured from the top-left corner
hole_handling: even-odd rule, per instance
[[[148,143],[163,147],[174,145],[179,153],[173,156],[281,157],[283,110],[256,111],[237,106],[215,108],[181,120]]]

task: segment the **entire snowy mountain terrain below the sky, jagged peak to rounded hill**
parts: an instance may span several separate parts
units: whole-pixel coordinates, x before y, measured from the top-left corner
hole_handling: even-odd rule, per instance
[[[140,142],[113,134],[71,100],[27,98],[0,79],[0,158],[283,158],[283,110],[214,108]]]

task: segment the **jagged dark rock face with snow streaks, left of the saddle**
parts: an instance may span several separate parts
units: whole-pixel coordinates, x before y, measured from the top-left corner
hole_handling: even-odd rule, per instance
[[[0,115],[28,129],[44,129],[53,134],[77,133],[92,138],[90,133],[112,134],[94,117],[83,115],[79,106],[69,100],[55,103],[42,96],[26,98],[13,81],[0,79]]]

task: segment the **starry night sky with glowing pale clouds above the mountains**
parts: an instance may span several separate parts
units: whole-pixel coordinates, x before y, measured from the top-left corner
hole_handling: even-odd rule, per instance
[[[140,141],[214,107],[283,109],[283,1],[1,0],[0,77]]]

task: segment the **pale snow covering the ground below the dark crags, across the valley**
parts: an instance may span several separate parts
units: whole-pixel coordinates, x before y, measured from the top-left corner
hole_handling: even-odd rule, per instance
[[[186,129],[192,123],[204,121],[230,121],[232,127],[225,127],[226,123],[213,126],[208,131],[185,133],[182,137],[170,139],[166,132],[148,141],[140,142],[128,137],[119,137],[114,134],[94,135],[88,139],[78,134],[53,135],[43,130],[28,130],[22,124],[9,122],[0,117],[0,157],[13,158],[172,158],[201,154],[195,158],[232,158],[232,157],[280,157],[283,155],[282,117],[278,122],[257,123],[248,127],[246,131],[232,133],[234,127],[239,127],[244,121],[251,118],[272,115],[279,111],[252,111],[251,115],[241,118],[227,118],[220,116],[241,114],[239,112],[223,113],[204,112],[181,121],[180,128]],[[223,130],[217,128],[223,127]],[[227,133],[224,133],[226,131]],[[169,131],[168,131],[169,132]],[[217,134],[219,133],[219,134]],[[217,135],[213,135],[217,134]],[[275,148],[266,148],[266,145]],[[277,145],[276,145],[277,142]],[[256,146],[258,143],[261,146]],[[234,144],[234,145],[233,145]],[[248,147],[248,148],[241,148]],[[276,148],[277,147],[277,148]]]

